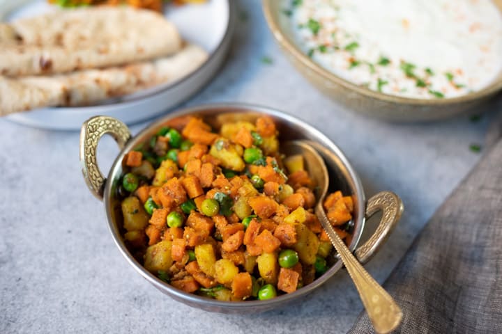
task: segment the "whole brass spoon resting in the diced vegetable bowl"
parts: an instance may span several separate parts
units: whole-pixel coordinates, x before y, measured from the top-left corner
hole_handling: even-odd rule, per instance
[[[301,154],[305,159],[310,177],[319,186],[318,202],[315,207],[317,218],[319,218],[321,225],[328,233],[331,244],[335,246],[347,271],[349,271],[375,331],[377,333],[393,331],[401,322],[402,312],[400,307],[352,255],[326,217],[322,203],[328,192],[329,175],[324,159],[307,141],[288,141],[281,145],[281,150],[287,155]]]

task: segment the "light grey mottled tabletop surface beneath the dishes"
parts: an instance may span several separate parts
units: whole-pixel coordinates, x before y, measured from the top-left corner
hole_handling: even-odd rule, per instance
[[[218,76],[186,105],[248,102],[309,122],[347,154],[367,196],[398,193],[405,214],[367,264],[383,282],[435,209],[480,158],[501,100],[433,124],[393,124],[358,116],[328,100],[281,54],[259,1],[238,1],[229,58]],[[267,56],[272,64],[261,59]],[[133,134],[149,124],[134,125]],[[282,310],[220,315],[162,295],[121,257],[102,203],[86,188],[79,133],[49,132],[0,119],[0,333],[344,333],[363,309],[347,273]],[[119,152],[99,147],[102,170]],[[176,331],[176,332],[175,332]]]

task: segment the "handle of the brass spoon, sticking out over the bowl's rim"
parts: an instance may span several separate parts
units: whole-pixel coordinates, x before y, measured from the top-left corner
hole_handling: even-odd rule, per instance
[[[402,312],[394,299],[388,294],[379,283],[370,276],[360,262],[354,257],[345,246],[338,234],[333,230],[331,224],[324,213],[322,205],[317,205],[316,214],[320,218],[321,225],[328,233],[331,244],[335,246],[338,254],[342,258],[353,283],[358,289],[359,296],[365,306],[368,317],[373,323],[377,333],[388,333],[393,331],[400,324]]]

